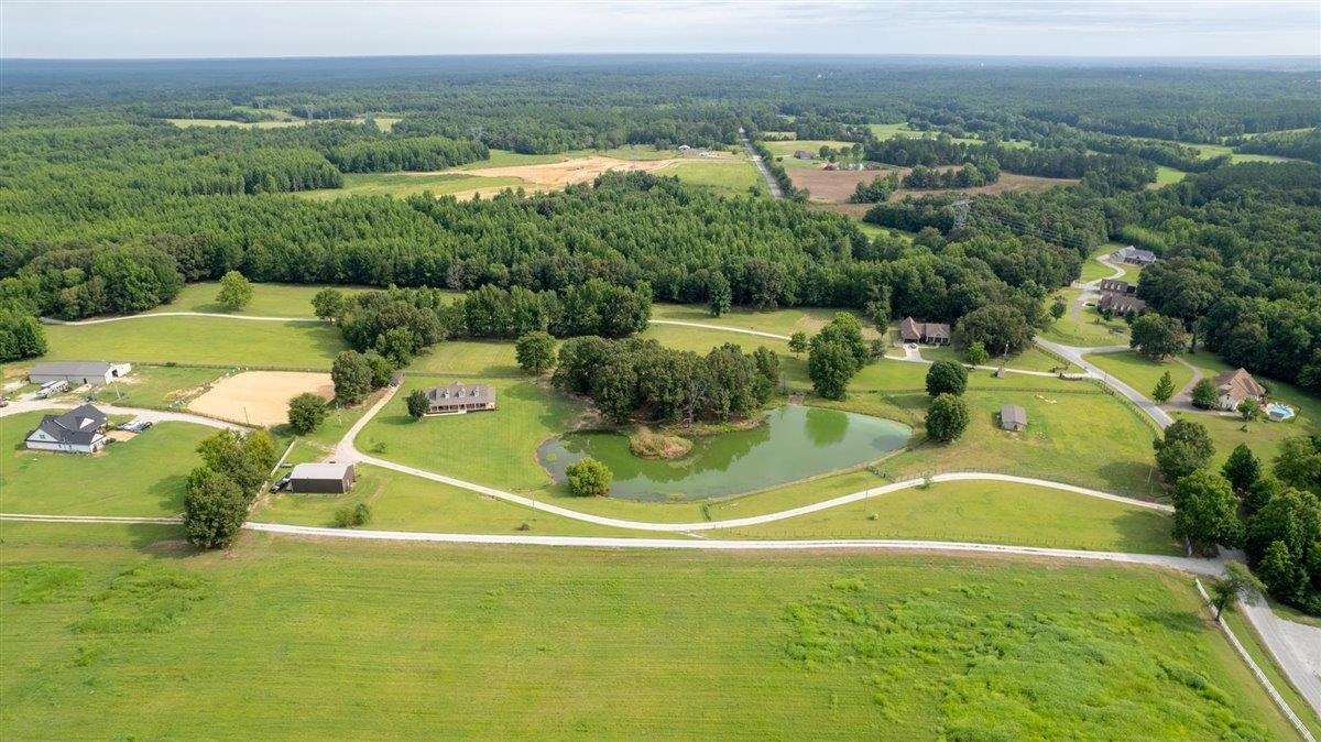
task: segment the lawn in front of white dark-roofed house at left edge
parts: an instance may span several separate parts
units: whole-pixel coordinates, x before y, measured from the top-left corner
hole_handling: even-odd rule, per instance
[[[95,455],[29,452],[22,440],[41,412],[0,419],[0,512],[131,515],[184,511],[184,479],[201,459],[197,444],[215,433],[190,422],[159,422]]]

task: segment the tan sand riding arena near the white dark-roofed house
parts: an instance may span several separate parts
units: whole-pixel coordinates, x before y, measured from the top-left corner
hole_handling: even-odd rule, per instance
[[[289,399],[303,392],[329,400],[334,384],[329,374],[246,371],[221,379],[188,408],[221,420],[273,426],[288,421]]]

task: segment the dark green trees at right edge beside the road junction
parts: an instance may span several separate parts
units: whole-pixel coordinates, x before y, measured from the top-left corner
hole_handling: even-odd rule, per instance
[[[1243,444],[1210,470],[1210,433],[1190,420],[1166,428],[1155,449],[1174,536],[1206,551],[1243,548],[1271,595],[1321,615],[1321,440],[1287,438],[1269,471]]]

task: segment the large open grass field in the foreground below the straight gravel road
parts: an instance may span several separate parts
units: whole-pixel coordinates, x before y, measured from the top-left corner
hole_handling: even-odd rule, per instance
[[[1151,569],[96,528],[0,524],[4,738],[1293,738]]]

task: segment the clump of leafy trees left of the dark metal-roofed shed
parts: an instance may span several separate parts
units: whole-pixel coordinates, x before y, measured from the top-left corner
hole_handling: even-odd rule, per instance
[[[221,430],[197,446],[202,465],[188,475],[184,531],[201,549],[229,547],[279,454],[266,430]]]

